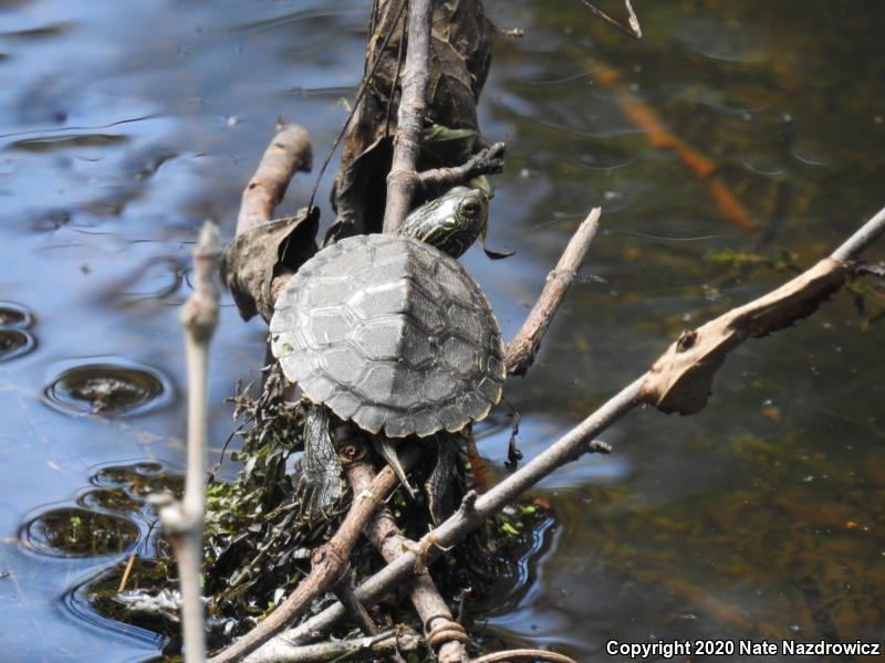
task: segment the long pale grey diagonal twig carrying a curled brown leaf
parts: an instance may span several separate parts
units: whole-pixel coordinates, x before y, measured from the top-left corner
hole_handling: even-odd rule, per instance
[[[861,252],[881,238],[882,234],[885,234],[885,210],[878,212],[850,240],[836,249],[829,260],[833,262],[856,260]],[[836,256],[839,256],[839,261],[836,261]],[[812,267],[810,272],[815,269]],[[766,299],[767,297],[762,297],[758,302]],[[806,314],[806,309],[788,306],[788,311],[783,312],[780,322],[787,322],[791,313],[802,317],[802,315]],[[730,312],[725,315],[730,315]],[[416,572],[416,568],[420,569],[431,561],[439,555],[441,549],[456,545],[486,518],[498,513],[507,504],[512,503],[539,481],[566,463],[576,460],[584,452],[590,451],[596,435],[642,403],[645,383],[650,375],[650,372],[644,373],[627,385],[584,421],[488,493],[480,496],[477,496],[476,493],[468,493],[458,513],[426,534],[417,543],[417,547],[404,549],[394,561],[357,588],[356,596],[363,604],[373,604],[384,593],[413,576]],[[340,603],[330,606],[296,629],[287,632],[285,636],[291,640],[315,638],[330,629],[344,614],[345,610]]]

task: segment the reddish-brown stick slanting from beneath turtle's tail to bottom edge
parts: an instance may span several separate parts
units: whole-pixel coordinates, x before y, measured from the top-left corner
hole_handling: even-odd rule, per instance
[[[405,469],[414,464],[417,457],[418,454],[415,446],[406,446],[400,453],[400,462]],[[353,463],[347,467],[348,476],[368,472],[373,472],[368,463]],[[339,582],[343,571],[347,568],[347,559],[360,537],[360,533],[368,523],[377,506],[393,493],[398,484],[399,480],[396,473],[389,466],[385,466],[371,482],[367,491],[354,495],[351,508],[337,532],[326,544],[313,551],[311,556],[311,564],[313,565],[311,573],[299,583],[294,591],[264,621],[233,644],[212,656],[210,659],[211,663],[239,661],[279,633],[289,622],[303,613],[313,599]],[[360,600],[362,600],[362,597],[360,597]]]

